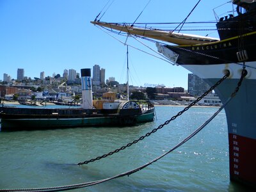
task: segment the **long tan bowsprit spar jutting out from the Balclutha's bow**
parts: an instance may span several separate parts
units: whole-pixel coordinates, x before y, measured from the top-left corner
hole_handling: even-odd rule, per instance
[[[164,42],[170,42],[177,45],[195,45],[206,44],[209,42],[216,42],[220,39],[211,38],[208,36],[188,35],[184,33],[174,33],[173,31],[161,31],[156,29],[136,28],[127,24],[116,24],[109,22],[99,22],[97,20],[91,21],[92,24],[102,26],[104,28],[115,29],[123,31],[131,35],[145,36]]]

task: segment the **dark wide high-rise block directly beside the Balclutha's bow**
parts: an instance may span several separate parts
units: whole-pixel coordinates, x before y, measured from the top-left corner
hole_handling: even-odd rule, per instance
[[[209,90],[211,86],[205,83],[203,79],[196,76],[195,74],[188,74],[188,92],[192,96],[200,96],[207,90]]]

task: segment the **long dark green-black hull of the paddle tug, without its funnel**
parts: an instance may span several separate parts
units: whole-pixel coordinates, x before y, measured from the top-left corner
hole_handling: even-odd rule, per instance
[[[127,111],[129,110],[129,111]],[[141,109],[32,109],[2,108],[1,131],[62,129],[88,126],[127,126],[154,120],[154,108]]]

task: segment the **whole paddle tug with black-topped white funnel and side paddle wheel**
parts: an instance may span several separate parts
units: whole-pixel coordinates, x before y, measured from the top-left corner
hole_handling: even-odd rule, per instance
[[[91,69],[81,69],[82,108],[0,108],[1,131],[62,129],[65,127],[129,126],[154,120],[153,104],[132,100],[103,100],[93,107]]]

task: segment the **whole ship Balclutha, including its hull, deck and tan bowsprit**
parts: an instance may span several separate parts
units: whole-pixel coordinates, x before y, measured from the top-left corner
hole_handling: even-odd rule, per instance
[[[145,28],[137,28],[136,23],[129,25],[94,20],[92,24],[109,28],[117,34],[124,31],[134,38],[154,39],[157,51],[210,85],[228,75],[214,89],[222,103],[230,98],[243,72],[245,77],[239,92],[225,106],[230,180],[255,187],[256,1],[233,0],[230,3],[237,6],[236,14],[229,14],[218,20],[216,28],[220,38],[152,29],[147,25]]]

